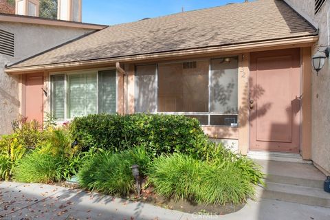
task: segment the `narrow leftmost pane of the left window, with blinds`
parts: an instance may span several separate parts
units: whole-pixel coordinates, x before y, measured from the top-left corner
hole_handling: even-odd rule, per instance
[[[65,111],[65,85],[64,85],[65,76],[63,75],[54,75],[51,76],[51,109],[52,115],[56,120],[64,120],[64,111]]]

